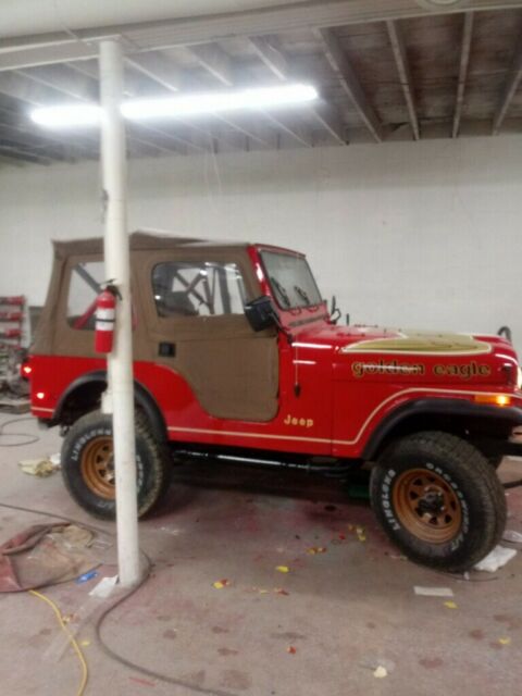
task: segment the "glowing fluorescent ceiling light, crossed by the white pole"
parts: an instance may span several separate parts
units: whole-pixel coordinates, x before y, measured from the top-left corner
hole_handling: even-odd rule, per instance
[[[307,103],[318,97],[318,90],[312,85],[281,85],[166,99],[130,99],[122,103],[122,114],[129,121],[186,119],[227,111],[269,111]],[[35,109],[30,117],[35,123],[51,128],[95,126],[101,121],[101,108],[97,104],[41,107]]]

